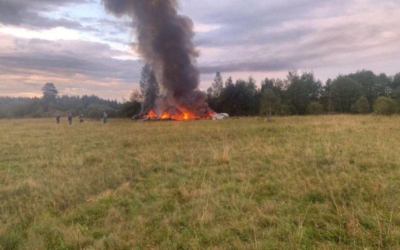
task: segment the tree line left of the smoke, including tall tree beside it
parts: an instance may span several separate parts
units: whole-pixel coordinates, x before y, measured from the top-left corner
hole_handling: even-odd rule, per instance
[[[133,90],[128,101],[103,99],[96,95],[59,95],[56,86],[47,82],[41,88],[42,97],[0,96],[1,118],[41,118],[83,114],[87,118],[132,117],[154,107],[159,96],[159,85],[149,64],[141,68],[140,90]]]

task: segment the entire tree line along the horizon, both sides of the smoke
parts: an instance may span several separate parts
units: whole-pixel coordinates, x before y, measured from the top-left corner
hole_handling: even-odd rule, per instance
[[[141,68],[140,88],[123,103],[95,95],[59,95],[53,83],[46,83],[41,90],[42,97],[0,96],[0,118],[50,117],[59,112],[89,118],[101,118],[103,112],[109,117],[132,117],[154,108],[160,93],[149,64]],[[260,84],[252,76],[223,80],[216,72],[206,94],[215,112],[232,116],[393,114],[400,112],[400,72],[387,76],[363,69],[322,82],[312,71],[289,71],[284,79],[265,78]]]

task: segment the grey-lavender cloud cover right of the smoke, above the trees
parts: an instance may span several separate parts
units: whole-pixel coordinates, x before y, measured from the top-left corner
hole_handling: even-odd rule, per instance
[[[362,68],[400,56],[397,1],[231,3],[222,0],[183,5],[183,11],[197,22],[219,27],[197,32],[195,37],[204,74],[327,66],[334,70],[346,64]]]

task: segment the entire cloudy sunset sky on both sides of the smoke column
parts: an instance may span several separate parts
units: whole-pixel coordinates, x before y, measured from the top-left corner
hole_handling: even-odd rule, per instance
[[[200,89],[224,79],[284,78],[313,70],[321,80],[371,69],[400,71],[400,0],[180,0],[194,22]],[[0,0],[0,95],[127,98],[143,61],[127,17],[101,0]]]

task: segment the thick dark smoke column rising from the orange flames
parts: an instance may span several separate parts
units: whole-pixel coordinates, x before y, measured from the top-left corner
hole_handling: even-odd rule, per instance
[[[154,68],[162,96],[157,112],[188,111],[200,117],[213,113],[198,90],[198,57],[192,38],[193,21],[177,13],[177,0],[102,0],[105,9],[132,18],[138,52]],[[178,110],[176,110],[178,109]]]

